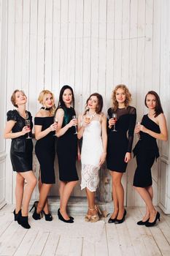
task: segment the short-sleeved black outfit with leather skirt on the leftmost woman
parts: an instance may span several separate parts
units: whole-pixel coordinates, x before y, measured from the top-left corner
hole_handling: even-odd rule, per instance
[[[33,127],[31,113],[28,112],[28,119],[31,121],[31,129]],[[9,110],[7,113],[7,121],[16,121],[12,132],[20,132],[26,126],[26,119],[20,116],[17,110]],[[29,132],[31,137],[31,132]],[[28,134],[12,139],[10,158],[12,162],[12,169],[18,173],[32,170],[32,151],[33,143],[31,139],[26,139]]]

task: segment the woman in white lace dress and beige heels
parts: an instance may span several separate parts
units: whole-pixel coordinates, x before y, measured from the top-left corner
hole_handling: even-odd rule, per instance
[[[95,192],[98,187],[98,170],[107,156],[107,118],[101,113],[103,98],[94,93],[86,101],[85,113],[78,118],[78,138],[82,138],[82,181],[88,198],[88,213],[85,221],[98,221]]]

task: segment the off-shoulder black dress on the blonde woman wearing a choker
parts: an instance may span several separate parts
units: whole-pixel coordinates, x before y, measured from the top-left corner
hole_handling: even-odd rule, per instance
[[[53,124],[53,116],[35,117],[34,124],[41,125],[42,131]],[[36,141],[35,152],[39,160],[42,183],[55,184],[55,132],[49,132],[45,137]]]

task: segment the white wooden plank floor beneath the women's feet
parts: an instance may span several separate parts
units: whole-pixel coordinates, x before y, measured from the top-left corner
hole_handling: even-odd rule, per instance
[[[73,224],[58,220],[35,221],[31,215],[30,230],[13,220],[13,206],[0,211],[0,255],[170,255],[170,216],[161,212],[161,222],[155,227],[136,225],[144,208],[126,208],[127,217],[121,225],[108,224],[107,219],[85,222],[74,216]]]

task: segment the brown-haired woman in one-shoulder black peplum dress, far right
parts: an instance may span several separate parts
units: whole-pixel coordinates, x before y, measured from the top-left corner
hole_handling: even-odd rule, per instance
[[[168,132],[166,127],[166,118],[163,115],[161,101],[155,91],[149,91],[145,97],[144,103],[148,108],[148,114],[142,118],[142,123],[137,124],[135,132],[139,134],[140,140],[134,148],[136,156],[136,172],[134,174],[134,188],[146,204],[146,213],[143,219],[137,222],[138,225],[152,227],[157,219],[160,220],[160,214],[152,204],[152,175],[151,167],[159,157],[158,145],[156,139],[167,140]]]

